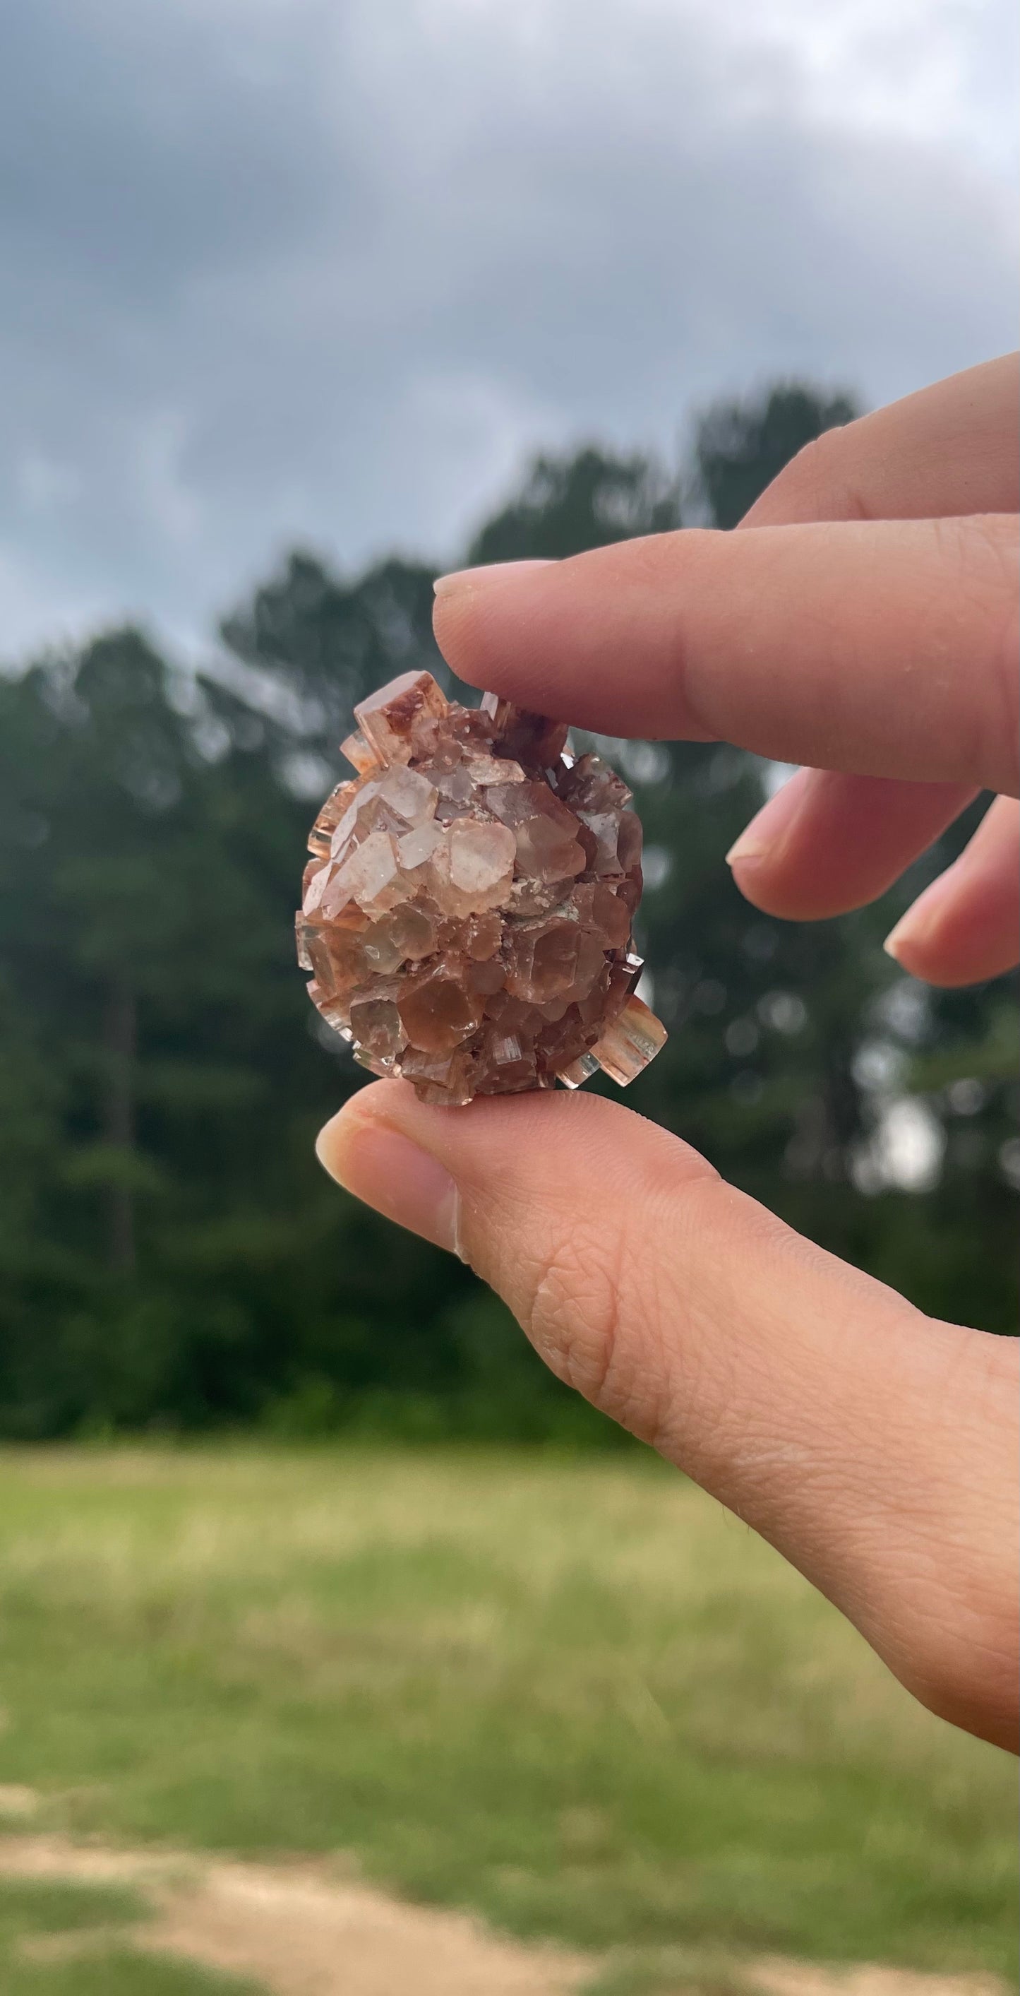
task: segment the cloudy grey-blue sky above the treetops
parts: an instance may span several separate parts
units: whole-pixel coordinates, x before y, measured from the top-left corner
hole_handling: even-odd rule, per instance
[[[455,557],[537,443],[1014,339],[1012,0],[32,0],[0,657]]]

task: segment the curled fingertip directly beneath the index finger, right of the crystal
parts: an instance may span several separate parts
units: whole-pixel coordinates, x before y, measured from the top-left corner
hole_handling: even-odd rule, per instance
[[[741,894],[788,922],[862,908],[884,894],[974,790],[798,768],[727,852]]]

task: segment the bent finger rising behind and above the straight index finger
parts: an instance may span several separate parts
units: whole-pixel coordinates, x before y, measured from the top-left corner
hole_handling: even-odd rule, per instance
[[[1020,355],[1004,353],[844,429],[826,429],[772,479],[741,525],[1016,513],[1018,421]]]

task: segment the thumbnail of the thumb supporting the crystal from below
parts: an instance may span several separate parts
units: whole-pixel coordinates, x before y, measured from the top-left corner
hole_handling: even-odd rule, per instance
[[[341,1110],[319,1130],[315,1156],[329,1178],[353,1192],[355,1200],[373,1206],[399,1228],[421,1234],[435,1248],[461,1253],[457,1186],[409,1138]]]

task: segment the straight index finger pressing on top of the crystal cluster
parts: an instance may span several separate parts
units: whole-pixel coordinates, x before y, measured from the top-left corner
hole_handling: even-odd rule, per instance
[[[1016,521],[683,531],[441,577],[455,673],[605,735],[1016,788]]]

